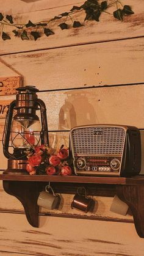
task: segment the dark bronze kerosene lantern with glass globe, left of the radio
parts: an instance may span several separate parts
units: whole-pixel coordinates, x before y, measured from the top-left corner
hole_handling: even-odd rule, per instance
[[[5,174],[27,174],[26,150],[49,145],[45,103],[37,97],[35,86],[19,87],[16,100],[7,111],[3,134],[3,151],[8,158]],[[36,114],[40,111],[41,122]]]

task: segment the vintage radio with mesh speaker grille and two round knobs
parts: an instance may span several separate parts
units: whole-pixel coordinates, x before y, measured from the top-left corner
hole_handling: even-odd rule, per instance
[[[77,126],[70,131],[70,147],[76,175],[131,177],[140,172],[140,131],[134,126]]]

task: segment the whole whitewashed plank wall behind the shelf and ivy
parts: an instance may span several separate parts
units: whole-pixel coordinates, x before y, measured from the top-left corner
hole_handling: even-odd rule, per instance
[[[0,0],[0,12],[22,23],[37,22],[82,2]],[[99,23],[86,21],[83,27],[65,31],[54,26],[54,35],[43,35],[36,42],[0,39],[0,78],[23,76],[24,86],[40,90],[38,97],[46,103],[49,137],[55,147],[68,145],[65,130],[77,125],[115,123],[144,128],[144,2],[121,2],[135,12],[123,22],[103,13]],[[84,15],[75,19],[83,21]],[[8,28],[5,32],[12,34]],[[6,106],[14,98],[0,94],[0,103]],[[3,128],[1,115],[0,138]],[[2,142],[0,159],[2,172],[7,167]],[[65,203],[54,211],[55,217],[41,209],[36,229],[26,221],[21,203],[4,192],[2,182],[0,192],[0,255],[144,255],[144,240],[137,235],[131,214],[121,216],[109,210],[112,197],[95,197],[96,208],[93,214],[87,213],[92,220],[81,219],[84,214],[70,209],[73,195],[63,194]],[[77,218],[60,218],[59,214]]]

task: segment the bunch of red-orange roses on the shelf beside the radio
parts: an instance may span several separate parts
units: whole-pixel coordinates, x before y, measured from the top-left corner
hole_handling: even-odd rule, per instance
[[[27,172],[30,175],[71,175],[72,159],[68,157],[68,148],[60,147],[56,152],[54,148],[40,145],[26,151],[28,163]]]

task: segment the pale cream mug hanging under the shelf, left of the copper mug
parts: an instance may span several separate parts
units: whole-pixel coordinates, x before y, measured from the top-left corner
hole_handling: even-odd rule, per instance
[[[51,193],[52,192],[52,193]],[[48,210],[53,210],[57,207],[60,197],[56,195],[51,188],[51,186],[46,186],[45,191],[41,191],[38,196],[37,204],[40,207],[46,208]]]

